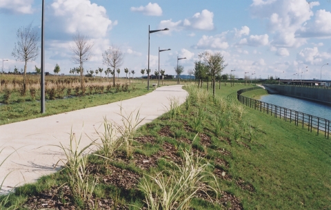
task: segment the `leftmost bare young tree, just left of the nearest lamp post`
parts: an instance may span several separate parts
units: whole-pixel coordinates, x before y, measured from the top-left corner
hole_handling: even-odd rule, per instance
[[[34,61],[38,54],[38,31],[32,28],[32,23],[17,30],[17,43],[15,43],[12,56],[17,61],[24,61],[23,90],[26,93],[26,65],[29,61]]]

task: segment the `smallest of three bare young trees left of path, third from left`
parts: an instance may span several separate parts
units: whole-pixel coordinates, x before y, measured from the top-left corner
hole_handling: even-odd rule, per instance
[[[102,54],[103,64],[113,68],[112,72],[115,72],[115,68],[119,68],[123,64],[123,53],[120,48],[116,46],[110,46],[105,53]],[[112,86],[115,86],[115,77],[113,79]]]

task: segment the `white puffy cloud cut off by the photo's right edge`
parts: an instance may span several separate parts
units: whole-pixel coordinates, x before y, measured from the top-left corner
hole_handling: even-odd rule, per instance
[[[331,37],[331,12],[317,10],[314,21],[301,28],[297,35],[300,37]]]

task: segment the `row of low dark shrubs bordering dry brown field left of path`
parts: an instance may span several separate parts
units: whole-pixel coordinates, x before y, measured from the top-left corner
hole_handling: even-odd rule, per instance
[[[132,90],[136,90],[134,85],[132,85]],[[30,93],[30,100],[34,101],[37,96],[37,92],[39,92],[37,88],[30,87],[28,91],[24,91],[24,88],[21,87],[18,90],[10,90],[5,89],[3,90],[4,94],[0,97],[0,102],[4,104],[10,104],[10,99],[12,97],[12,93],[17,92],[21,99],[18,99],[17,102],[25,102],[27,92]],[[93,94],[103,94],[103,93],[119,93],[119,92],[129,92],[131,89],[129,88],[128,84],[116,84],[115,86],[112,85],[90,85],[90,86],[76,86],[74,88],[66,88],[64,86],[56,86],[52,88],[46,88],[46,99],[62,99],[64,97],[82,97],[84,95],[93,95]]]

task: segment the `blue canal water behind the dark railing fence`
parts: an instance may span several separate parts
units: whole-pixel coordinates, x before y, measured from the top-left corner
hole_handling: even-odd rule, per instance
[[[314,115],[316,117],[325,118],[326,120],[331,120],[331,106],[325,104],[319,104],[309,100],[297,99],[294,97],[277,94],[263,95],[259,100],[261,102],[290,108],[294,111],[299,111],[308,115]]]

